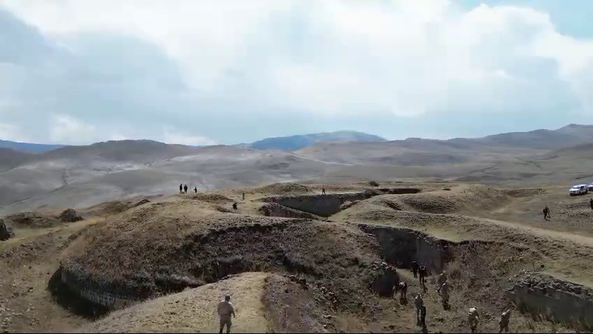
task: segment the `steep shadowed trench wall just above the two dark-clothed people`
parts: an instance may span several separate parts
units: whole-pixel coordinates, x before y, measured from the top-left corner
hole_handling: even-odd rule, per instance
[[[446,240],[408,228],[367,224],[360,224],[359,228],[375,235],[383,257],[400,268],[410,268],[412,262],[417,261],[418,264],[423,263],[431,273],[438,273],[452,259],[450,243]]]

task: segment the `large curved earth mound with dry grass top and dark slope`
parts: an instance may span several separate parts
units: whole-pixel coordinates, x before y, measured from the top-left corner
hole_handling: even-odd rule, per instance
[[[378,242],[356,226],[158,204],[106,219],[73,240],[57,273],[61,289],[113,310],[227,275],[295,273],[331,292],[334,307],[372,314],[380,307],[376,293],[385,295],[398,279],[380,265]]]

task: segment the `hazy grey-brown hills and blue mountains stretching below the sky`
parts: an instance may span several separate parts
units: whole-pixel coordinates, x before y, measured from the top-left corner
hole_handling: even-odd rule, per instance
[[[593,126],[570,124],[557,130],[449,140],[388,141],[338,131],[205,147],[152,140],[81,146],[2,141],[0,214],[169,194],[182,182],[208,191],[310,177],[431,177],[492,184],[593,180],[592,138]]]

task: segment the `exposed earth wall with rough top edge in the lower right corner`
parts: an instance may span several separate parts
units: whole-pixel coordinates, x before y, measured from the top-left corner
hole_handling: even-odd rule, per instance
[[[593,329],[593,290],[542,274],[527,275],[507,291],[522,310]]]

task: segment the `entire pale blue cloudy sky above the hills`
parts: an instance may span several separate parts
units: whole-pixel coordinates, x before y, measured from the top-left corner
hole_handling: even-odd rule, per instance
[[[0,139],[593,124],[593,1],[1,0]]]

